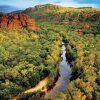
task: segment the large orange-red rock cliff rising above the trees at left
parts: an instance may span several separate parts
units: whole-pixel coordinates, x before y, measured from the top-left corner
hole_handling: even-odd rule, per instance
[[[21,29],[22,27],[32,30],[37,28],[35,20],[25,14],[0,14],[0,28]]]

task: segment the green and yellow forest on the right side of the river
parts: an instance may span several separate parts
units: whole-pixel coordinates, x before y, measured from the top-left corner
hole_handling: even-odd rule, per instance
[[[64,93],[58,95],[58,99],[99,100],[100,35],[69,32],[65,35],[65,41],[67,57],[73,68],[73,81]]]

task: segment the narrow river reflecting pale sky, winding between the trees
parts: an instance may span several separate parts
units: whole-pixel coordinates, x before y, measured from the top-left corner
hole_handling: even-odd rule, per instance
[[[45,98],[51,98],[55,100],[55,96],[58,92],[64,91],[67,84],[70,82],[72,69],[70,68],[70,65],[66,59],[66,47],[65,44],[62,43],[62,55],[61,55],[62,61],[60,62],[60,77],[58,81],[56,82],[56,85],[52,90],[50,90],[48,93],[46,93]]]

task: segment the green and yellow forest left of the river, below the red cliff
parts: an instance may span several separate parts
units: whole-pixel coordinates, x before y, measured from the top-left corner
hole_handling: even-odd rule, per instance
[[[61,37],[48,30],[0,30],[0,98],[6,100],[58,74]],[[50,82],[48,84],[50,84]]]

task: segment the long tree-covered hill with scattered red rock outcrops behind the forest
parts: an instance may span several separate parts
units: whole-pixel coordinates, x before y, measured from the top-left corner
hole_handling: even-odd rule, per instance
[[[44,4],[27,8],[22,13],[35,18],[37,21],[48,21],[55,24],[71,26],[78,33],[99,34],[100,31],[100,8],[70,8]]]

